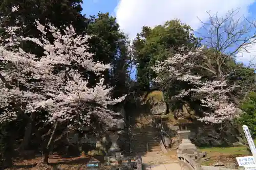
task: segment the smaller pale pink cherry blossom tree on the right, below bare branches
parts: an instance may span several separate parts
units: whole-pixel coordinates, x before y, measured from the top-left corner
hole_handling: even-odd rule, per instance
[[[181,47],[180,53],[163,62],[158,62],[153,67],[157,74],[154,82],[165,87],[181,85],[181,88],[175,89],[175,98],[180,101],[187,99],[198,101],[203,108],[203,116],[197,117],[198,120],[222,123],[236,116],[236,105],[229,100],[227,95],[236,85],[228,86],[225,75],[216,80],[214,77],[208,79],[198,74],[197,69],[202,67],[199,63],[204,60],[205,51],[204,47],[195,51],[188,51],[184,46]],[[208,70],[205,69],[205,71]]]

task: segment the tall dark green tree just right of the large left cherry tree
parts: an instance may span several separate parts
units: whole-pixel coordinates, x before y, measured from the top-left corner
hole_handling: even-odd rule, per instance
[[[99,13],[97,16],[91,16],[88,21],[86,32],[94,35],[89,40],[92,46],[91,53],[94,53],[95,60],[104,64],[111,63],[112,69],[106,70],[104,74],[106,84],[114,86],[114,97],[127,93],[127,80],[129,79],[129,51],[127,49],[127,38],[119,30],[116,18],[109,13]],[[92,78],[90,83],[95,84]]]

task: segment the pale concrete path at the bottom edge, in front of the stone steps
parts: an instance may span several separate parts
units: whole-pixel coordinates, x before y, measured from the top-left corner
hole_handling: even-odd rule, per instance
[[[160,165],[144,164],[144,170],[182,170],[179,163],[168,163]]]

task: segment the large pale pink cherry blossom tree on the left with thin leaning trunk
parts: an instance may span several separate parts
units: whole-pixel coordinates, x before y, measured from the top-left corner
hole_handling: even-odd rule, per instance
[[[13,12],[16,10],[13,8]],[[7,34],[0,38],[0,108],[4,110],[0,123],[47,111],[43,121],[54,125],[45,150],[44,161],[48,162],[49,147],[59,124],[79,129],[90,126],[96,118],[106,127],[116,126],[123,120],[116,118],[119,113],[108,106],[121,102],[125,96],[111,98],[112,88],[104,85],[101,74],[110,64],[94,61],[87,44],[91,36],[77,35],[72,26],[59,30],[50,23],[35,24],[41,33],[39,38],[18,35],[18,27],[5,28]],[[43,48],[44,55],[25,52],[19,47],[24,41]],[[90,76],[84,74],[86,71],[82,74],[81,69],[94,72],[98,83],[91,87]]]

